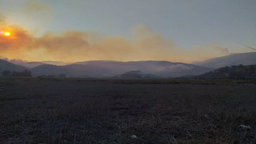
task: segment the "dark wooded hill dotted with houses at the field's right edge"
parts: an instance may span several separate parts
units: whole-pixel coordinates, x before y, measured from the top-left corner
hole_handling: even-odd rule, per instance
[[[196,79],[254,79],[256,78],[256,65],[238,65],[218,68],[208,73],[195,76]]]

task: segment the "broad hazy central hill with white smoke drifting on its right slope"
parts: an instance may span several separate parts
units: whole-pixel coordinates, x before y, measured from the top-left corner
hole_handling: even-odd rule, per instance
[[[169,62],[169,61],[109,61],[92,60],[76,62],[86,66],[98,66],[111,70],[115,75],[123,74],[127,71],[140,70],[160,77],[178,77],[184,75],[200,75],[209,72],[214,68],[205,68],[197,65]]]

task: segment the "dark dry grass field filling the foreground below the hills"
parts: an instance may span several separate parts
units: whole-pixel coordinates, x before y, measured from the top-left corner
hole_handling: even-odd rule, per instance
[[[0,77],[0,143],[256,143],[253,83]]]

